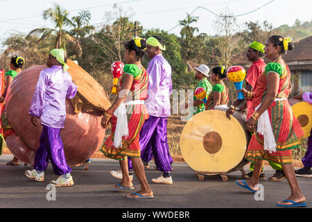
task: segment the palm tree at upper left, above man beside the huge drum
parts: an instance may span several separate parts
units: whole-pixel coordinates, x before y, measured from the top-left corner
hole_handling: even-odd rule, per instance
[[[52,33],[55,33],[56,35],[56,41],[55,41],[55,48],[60,49],[66,48],[64,40],[68,40],[69,42],[72,42],[76,46],[76,51],[78,52],[78,56],[82,55],[82,48],[79,44],[79,41],[76,40],[76,38],[71,37],[67,33],[67,31],[64,30],[65,26],[73,25],[71,20],[68,17],[69,12],[62,8],[60,5],[55,4],[52,8],[49,8],[47,10],[44,10],[43,12],[43,18],[44,20],[51,20],[55,23],[55,28],[35,28],[33,31],[31,31],[27,37],[33,35],[33,34],[42,34],[40,39],[35,43],[34,47],[37,46],[37,44],[40,44],[42,40],[44,40],[46,37],[49,37]]]

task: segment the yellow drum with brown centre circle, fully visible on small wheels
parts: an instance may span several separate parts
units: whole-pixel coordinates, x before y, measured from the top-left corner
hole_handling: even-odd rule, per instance
[[[225,112],[207,110],[190,119],[182,130],[180,148],[185,162],[200,174],[223,176],[242,169],[248,163],[244,159],[250,142],[245,130],[245,115],[235,112],[227,119]]]

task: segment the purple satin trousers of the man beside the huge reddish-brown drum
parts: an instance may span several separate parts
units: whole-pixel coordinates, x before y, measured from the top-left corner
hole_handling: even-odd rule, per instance
[[[53,167],[53,171],[57,175],[63,175],[71,172],[71,168],[67,165],[62,138],[60,137],[60,128],[52,128],[43,126],[40,136],[40,147],[36,151],[33,163],[34,169],[37,171],[45,171],[48,167],[49,160]]]

